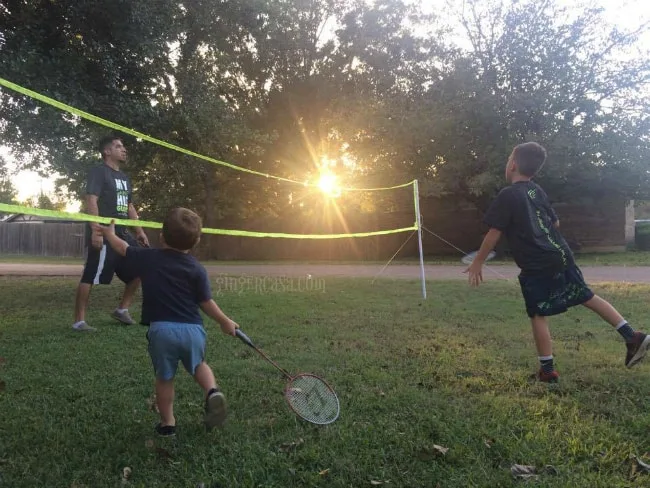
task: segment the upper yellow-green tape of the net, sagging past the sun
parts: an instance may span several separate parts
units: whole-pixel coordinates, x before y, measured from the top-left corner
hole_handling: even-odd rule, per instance
[[[101,117],[97,117],[96,115],[89,114],[87,112],[84,112],[82,110],[79,110],[78,108],[72,107],[70,105],[66,105],[65,103],[59,102],[58,100],[54,100],[53,98],[47,97],[45,95],[41,95],[40,93],[37,93],[35,91],[32,91],[28,88],[24,88],[20,85],[17,85],[15,83],[12,83],[11,81],[5,80],[4,78],[0,78],[0,85],[4,86],[5,88],[9,88],[11,90],[14,90],[18,93],[21,93],[22,95],[26,95],[31,98],[35,98],[36,100],[40,100],[43,103],[46,103],[48,105],[51,105],[52,107],[58,108],[59,110],[63,110],[64,112],[68,112],[70,114],[76,115],[78,117],[81,117],[82,119],[90,120],[91,122],[95,122],[96,124],[103,125],[104,127],[109,127],[111,129],[115,129],[117,131],[123,132],[125,134],[130,134],[132,136],[135,136],[137,138],[140,138],[144,141],[151,142],[153,144],[157,144],[162,147],[166,147],[167,149],[171,149],[173,151],[177,151],[183,154],[186,154],[188,156],[193,156],[195,158],[202,159],[204,161],[208,161],[210,163],[214,164],[219,164],[221,166],[226,166],[228,168],[237,170],[237,171],[243,171],[245,173],[250,173],[253,175],[258,175],[258,176],[264,176],[265,178],[273,178],[275,180],[279,181],[285,181],[288,183],[296,183],[298,185],[302,186],[307,186],[307,187],[314,187],[317,188],[318,185],[311,184],[311,183],[305,183],[304,181],[296,181],[292,180],[289,178],[283,178],[282,176],[274,176],[266,173],[261,173],[259,171],[255,171],[252,169],[248,168],[242,168],[241,166],[236,166],[231,163],[226,163],[225,161],[219,161],[218,159],[211,158],[209,156],[204,156],[199,153],[195,153],[194,151],[190,151],[188,149],[183,149],[182,147],[178,147],[174,144],[170,144],[169,142],[165,142],[160,139],[156,139],[154,137],[148,136],[146,134],[143,134],[141,132],[135,131],[133,129],[129,129],[128,127],[124,127],[122,125],[116,124],[115,122],[111,122],[110,120],[105,120],[102,119]],[[397,188],[404,188],[409,185],[413,185],[413,181],[409,181],[408,183],[402,183],[401,185],[395,185],[395,186],[389,186],[389,187],[382,187],[382,188],[341,188],[342,191],[379,191],[379,190],[395,190]]]

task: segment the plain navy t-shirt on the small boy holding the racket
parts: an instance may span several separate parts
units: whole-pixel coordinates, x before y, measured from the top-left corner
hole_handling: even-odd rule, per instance
[[[142,280],[143,325],[203,324],[199,304],[212,299],[205,268],[194,256],[173,249],[129,246],[127,266]]]

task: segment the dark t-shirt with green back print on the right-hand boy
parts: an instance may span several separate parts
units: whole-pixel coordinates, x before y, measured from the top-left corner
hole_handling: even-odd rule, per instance
[[[574,263],[569,245],[553,225],[558,221],[544,190],[520,181],[501,190],[483,222],[502,231],[522,271],[554,273]]]

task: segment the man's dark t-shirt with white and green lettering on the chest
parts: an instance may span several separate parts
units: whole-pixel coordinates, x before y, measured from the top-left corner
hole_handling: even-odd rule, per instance
[[[131,180],[122,171],[116,171],[107,164],[95,166],[88,173],[86,194],[97,196],[100,217],[129,218],[129,204],[132,201]],[[126,227],[116,226],[115,233],[124,236]],[[90,236],[90,232],[88,235]]]

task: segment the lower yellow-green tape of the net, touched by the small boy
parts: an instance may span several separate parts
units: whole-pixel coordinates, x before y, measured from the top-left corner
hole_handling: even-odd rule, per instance
[[[22,205],[9,205],[0,203],[0,212],[9,214],[26,214],[36,215],[39,217],[53,217],[57,219],[66,220],[79,220],[82,222],[97,222],[99,224],[110,224],[111,219],[108,217],[97,217],[96,215],[89,215],[85,213],[69,213],[60,212],[57,210],[45,210],[42,208],[24,207]],[[150,222],[146,220],[130,220],[130,219],[114,219],[117,225],[125,225],[130,227],[147,227],[150,229],[162,229],[162,224],[159,222]],[[7,224],[11,225],[11,224]],[[282,232],[254,232],[247,230],[229,230],[229,229],[210,229],[203,228],[204,234],[218,234],[225,236],[239,236],[239,237],[279,237],[285,239],[343,239],[348,237],[371,237],[381,236],[387,234],[398,234],[400,232],[407,232],[417,230],[417,223],[411,227],[404,227],[401,229],[390,230],[377,230],[372,232],[353,232],[350,234],[285,234]]]

